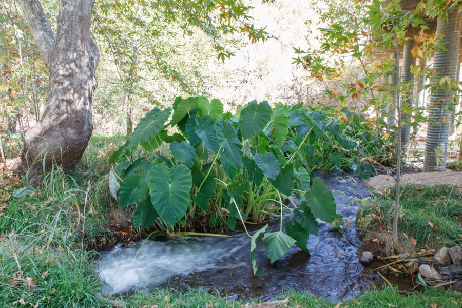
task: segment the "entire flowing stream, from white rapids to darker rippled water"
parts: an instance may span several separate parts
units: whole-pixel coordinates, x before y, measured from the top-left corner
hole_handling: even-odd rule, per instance
[[[348,198],[367,196],[367,189],[358,185],[357,178],[350,175],[317,173],[316,176],[334,192],[337,213],[354,225],[359,205],[350,204]],[[294,202],[299,201],[294,198]],[[270,223],[272,231],[279,226],[279,220]],[[251,244],[246,235],[195,237],[187,241],[148,240],[141,249],[143,242],[134,243],[129,248],[119,244],[102,253],[98,271],[106,282],[103,290],[106,294],[201,287],[234,298],[270,300],[283,292],[284,287],[294,286],[336,300],[349,299],[382,284],[379,275],[365,271],[367,268],[358,262],[356,252],[361,240],[355,228],[334,229],[320,222],[318,233],[318,236],[310,235],[308,248],[311,256],[294,246],[273,264],[259,241],[255,255],[257,266],[263,272],[260,277],[253,275],[249,258]]]

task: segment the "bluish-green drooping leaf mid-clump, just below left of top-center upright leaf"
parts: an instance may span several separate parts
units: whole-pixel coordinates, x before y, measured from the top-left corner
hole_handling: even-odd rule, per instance
[[[237,169],[242,167],[242,143],[237,137],[236,130],[234,130],[233,123],[226,120],[224,125],[220,122],[215,123],[215,131],[217,133],[218,145],[222,147],[220,152],[226,161],[232,164]]]

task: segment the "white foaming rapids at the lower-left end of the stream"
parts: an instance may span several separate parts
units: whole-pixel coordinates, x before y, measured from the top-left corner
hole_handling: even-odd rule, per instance
[[[202,237],[190,239],[187,243],[148,240],[140,249],[142,244],[134,243],[129,248],[118,244],[111,251],[102,253],[97,269],[106,283],[103,287],[105,294],[149,289],[169,282],[175,284],[171,279],[207,269],[251,266],[248,259],[235,258],[237,251],[249,249],[247,237]]]

